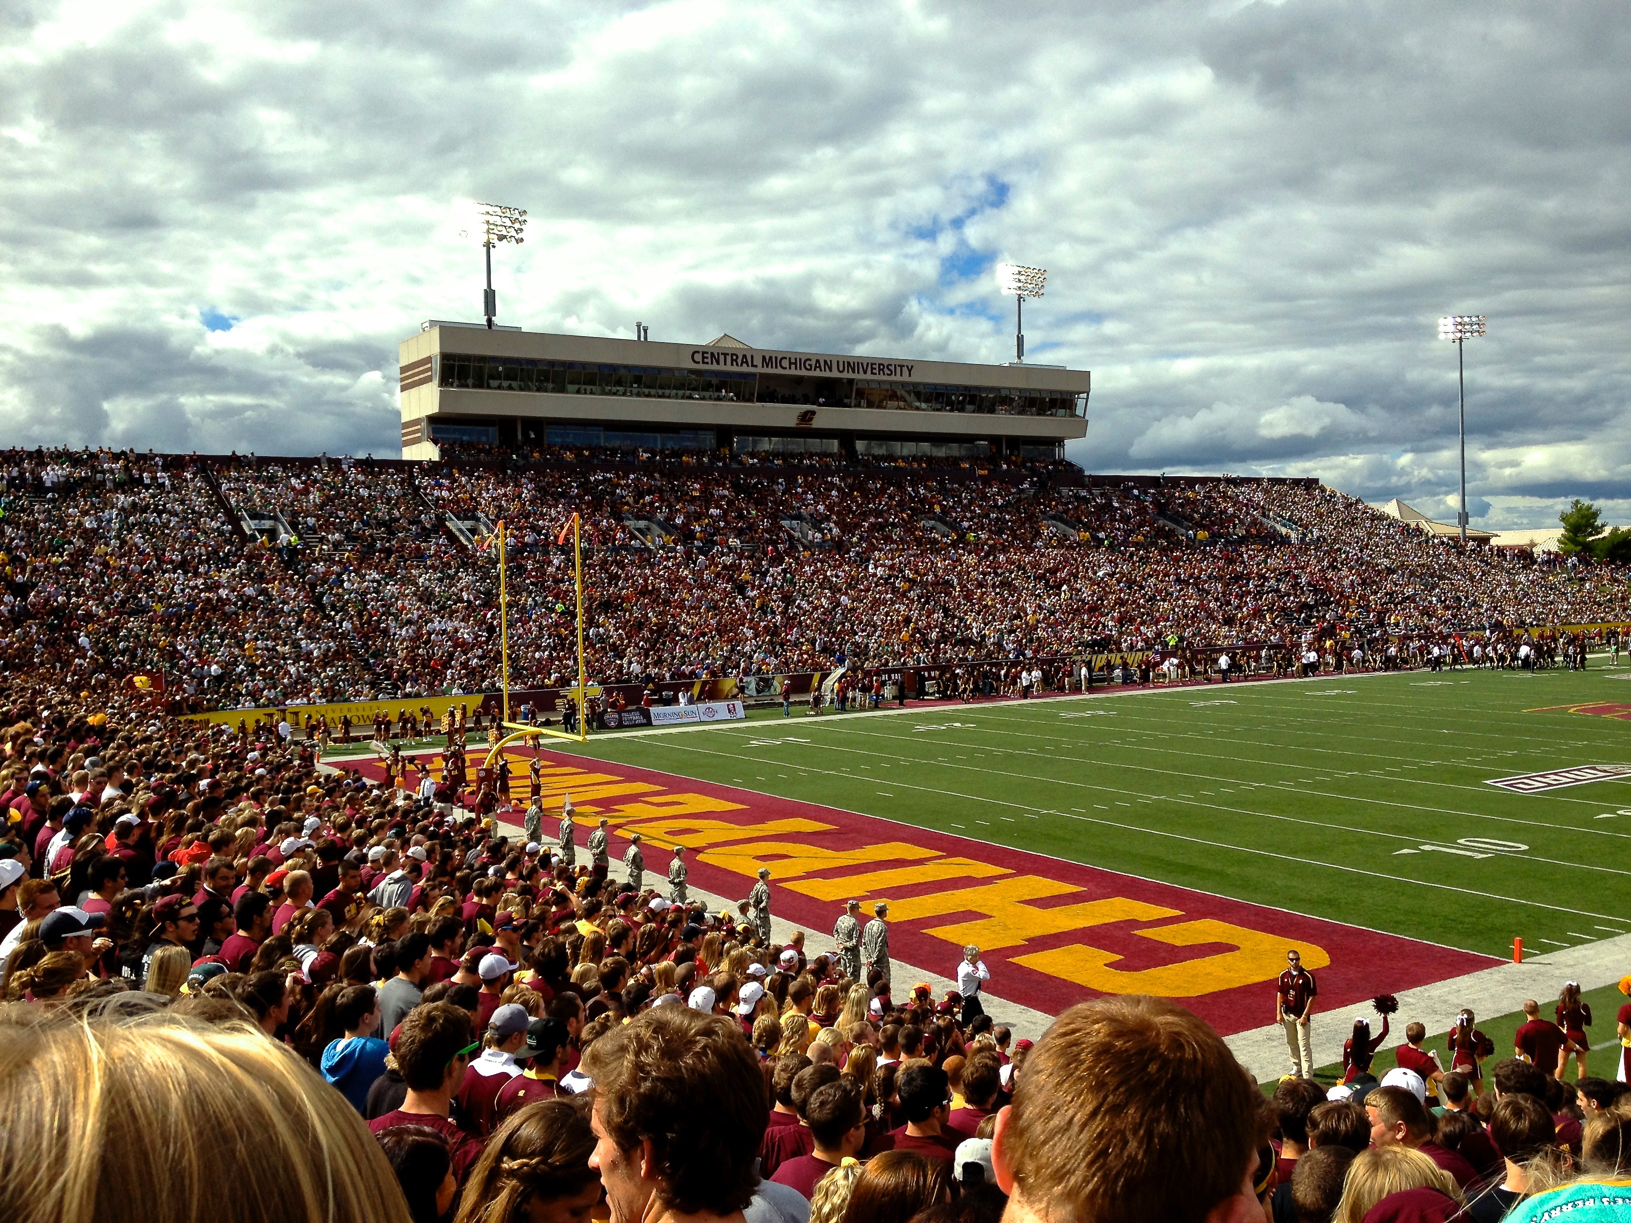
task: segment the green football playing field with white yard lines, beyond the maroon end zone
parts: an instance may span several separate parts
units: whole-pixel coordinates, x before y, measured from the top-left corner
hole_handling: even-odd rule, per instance
[[[1605,669],[1411,672],[548,747],[1505,957],[1631,929],[1624,783],[1486,784],[1631,763],[1623,721],[1527,713],[1615,700]]]

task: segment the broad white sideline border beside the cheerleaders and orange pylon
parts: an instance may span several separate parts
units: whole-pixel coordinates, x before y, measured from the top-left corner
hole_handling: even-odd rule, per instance
[[[1631,934],[1621,934],[1582,947],[1548,951],[1545,956],[1525,959],[1523,964],[1499,964],[1465,977],[1404,990],[1398,995],[1399,1013],[1395,1016],[1399,1022],[1388,1032],[1385,1047],[1396,1049],[1404,1044],[1404,1024],[1411,1021],[1425,1024],[1429,1034],[1448,1032],[1463,1006],[1487,1019],[1520,1009],[1525,998],[1556,998],[1564,982],[1579,982],[1582,990],[1613,985],[1624,975],[1628,962],[1631,962]],[[1362,1004],[1357,1009],[1368,1013],[1370,1006]],[[1315,1011],[1308,1027],[1316,1066],[1342,1060],[1342,1042],[1354,1034],[1354,1006],[1341,1011]],[[1290,1070],[1285,1031],[1279,1024],[1236,1032],[1225,1040],[1241,1065],[1259,1081],[1272,1083]],[[1592,1049],[1602,1047],[1592,1045]],[[1504,1050],[1496,1050],[1496,1055],[1502,1057]]]

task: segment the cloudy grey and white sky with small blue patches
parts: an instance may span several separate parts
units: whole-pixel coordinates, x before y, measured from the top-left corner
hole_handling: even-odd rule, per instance
[[[1631,522],[1616,2],[0,3],[0,444],[395,453],[476,318],[1093,370],[1093,471]]]

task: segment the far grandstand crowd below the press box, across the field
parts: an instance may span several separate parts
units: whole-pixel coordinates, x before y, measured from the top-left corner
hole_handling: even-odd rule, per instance
[[[515,687],[1235,651],[1236,673],[1517,662],[1514,628],[1631,618],[1611,569],[1461,553],[1303,483],[1083,483],[1028,461],[194,460],[0,453],[0,662],[188,708],[475,693],[506,520]],[[281,515],[246,527],[243,514]],[[267,517],[259,519],[264,527]],[[287,532],[285,532],[287,528]],[[1566,642],[1572,646],[1572,642]],[[1359,654],[1355,656],[1355,651]],[[1210,669],[1210,662],[1205,664]],[[1050,667],[1062,683],[1070,667]]]

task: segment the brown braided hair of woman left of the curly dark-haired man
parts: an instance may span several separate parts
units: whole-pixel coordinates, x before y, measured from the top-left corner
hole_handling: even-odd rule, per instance
[[[574,1197],[599,1182],[586,1097],[548,1099],[515,1112],[470,1171],[453,1223],[525,1223],[528,1203]]]

